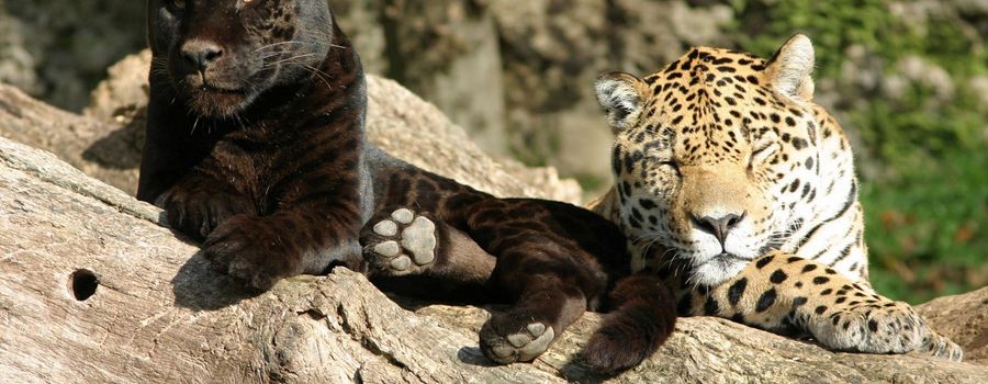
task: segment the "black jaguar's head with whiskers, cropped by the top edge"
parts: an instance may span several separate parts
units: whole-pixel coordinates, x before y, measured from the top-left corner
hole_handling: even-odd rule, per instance
[[[326,0],[148,0],[151,82],[198,115],[232,116],[315,71],[333,30]]]

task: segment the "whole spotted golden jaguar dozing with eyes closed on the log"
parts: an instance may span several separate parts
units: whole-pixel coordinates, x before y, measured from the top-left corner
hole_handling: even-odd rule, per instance
[[[616,185],[596,210],[620,225],[635,270],[677,287],[683,315],[958,360],[868,284],[853,156],[812,101],[813,55],[797,35],[770,60],[697,47],[644,79],[600,77]]]

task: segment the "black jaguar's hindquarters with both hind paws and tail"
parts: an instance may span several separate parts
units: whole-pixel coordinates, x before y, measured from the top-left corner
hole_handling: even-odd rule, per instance
[[[480,332],[481,350],[495,362],[537,358],[586,309],[598,308],[608,287],[629,273],[624,235],[586,210],[551,201],[496,199],[415,169],[375,174],[379,204],[388,205],[378,207],[378,217],[361,238],[372,275],[437,276],[440,287],[486,280],[482,296],[512,304],[493,314]],[[492,257],[496,266],[489,273]],[[411,280],[396,283],[396,292],[419,285]],[[665,339],[675,307],[664,286],[655,284],[638,279],[619,285],[625,289],[611,297],[618,314],[605,329],[629,332],[596,337],[600,342],[588,352],[599,359],[592,366],[627,368]],[[629,324],[633,329],[626,327]],[[639,335],[638,330],[645,340],[635,340],[630,351],[614,351],[615,343]]]

